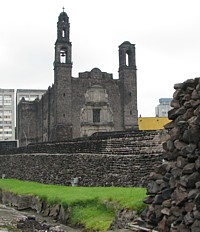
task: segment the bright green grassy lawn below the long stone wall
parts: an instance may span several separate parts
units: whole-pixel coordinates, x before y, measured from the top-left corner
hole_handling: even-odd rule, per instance
[[[24,195],[39,196],[50,204],[72,207],[71,223],[80,223],[87,229],[107,230],[115,213],[122,208],[141,210],[145,188],[123,187],[69,187],[0,179],[0,188]]]

